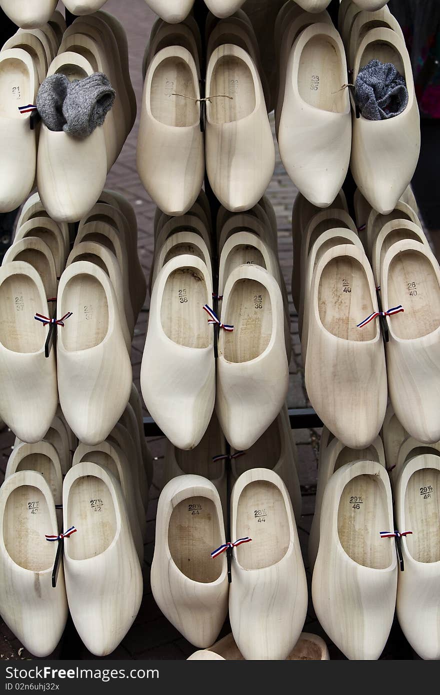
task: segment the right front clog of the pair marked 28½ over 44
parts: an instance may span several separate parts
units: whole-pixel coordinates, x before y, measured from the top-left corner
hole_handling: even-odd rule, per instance
[[[245,659],[283,660],[300,637],[307,582],[288,491],[266,468],[243,473],[231,493],[229,621]],[[270,606],[270,610],[268,610]]]

